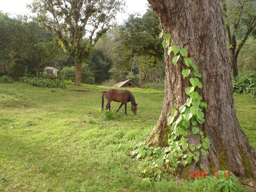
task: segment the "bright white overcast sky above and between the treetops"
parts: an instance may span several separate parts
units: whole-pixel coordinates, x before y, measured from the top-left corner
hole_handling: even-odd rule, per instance
[[[0,0],[0,10],[12,16],[29,14],[26,4],[31,4],[33,0]],[[147,9],[147,0],[125,0],[127,14],[118,14],[117,22],[121,24],[128,14],[140,13],[143,15]]]

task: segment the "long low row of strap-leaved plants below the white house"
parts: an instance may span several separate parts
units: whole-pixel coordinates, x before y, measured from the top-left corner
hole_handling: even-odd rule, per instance
[[[62,88],[66,89],[66,84],[59,79],[46,79],[46,78],[37,78],[37,77],[21,77],[19,79],[24,83],[29,83],[36,87],[50,87],[50,88]]]

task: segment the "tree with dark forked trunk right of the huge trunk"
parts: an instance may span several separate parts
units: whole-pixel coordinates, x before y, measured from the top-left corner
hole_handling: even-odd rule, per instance
[[[255,33],[256,1],[221,0],[225,31],[228,40],[230,67],[238,76],[237,57],[251,33]]]

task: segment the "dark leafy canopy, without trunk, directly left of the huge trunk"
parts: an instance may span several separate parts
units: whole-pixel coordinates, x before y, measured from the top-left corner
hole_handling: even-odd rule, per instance
[[[142,17],[131,15],[120,28],[121,51],[129,60],[134,55],[150,55],[163,58],[162,42],[158,38],[159,19],[148,9]]]

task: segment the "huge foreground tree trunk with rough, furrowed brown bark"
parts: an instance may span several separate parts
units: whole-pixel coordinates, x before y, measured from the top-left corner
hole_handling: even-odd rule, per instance
[[[208,104],[205,122],[199,127],[210,140],[206,157],[200,155],[189,166],[179,171],[190,176],[190,171],[230,170],[236,175],[256,177],[256,155],[241,130],[234,108],[231,72],[225,44],[225,33],[220,3],[217,0],[148,0],[158,15],[166,33],[172,35],[176,46],[188,50],[188,57],[197,65],[202,77],[202,101]],[[170,108],[184,104],[188,80],[182,76],[182,63],[176,66],[165,49],[165,97],[162,112],[147,138],[150,146],[167,146]],[[191,130],[191,128],[190,128]],[[188,143],[200,144],[198,134],[189,134]]]

